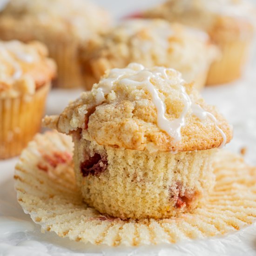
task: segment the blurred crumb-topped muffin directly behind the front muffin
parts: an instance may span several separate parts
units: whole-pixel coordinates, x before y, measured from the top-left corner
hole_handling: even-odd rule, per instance
[[[81,47],[85,86],[90,90],[107,69],[131,62],[163,66],[182,72],[195,87],[204,86],[209,66],[219,52],[207,34],[164,20],[128,20]]]

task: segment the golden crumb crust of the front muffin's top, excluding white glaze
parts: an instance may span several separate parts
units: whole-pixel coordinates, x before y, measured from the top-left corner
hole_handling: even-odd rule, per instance
[[[141,67],[141,65],[139,65]],[[123,72],[122,78],[131,78],[139,73],[138,64],[129,65],[126,69],[118,69]],[[151,70],[156,70],[157,67]],[[177,141],[174,135],[159,128],[155,103],[152,94],[142,85],[141,88],[130,83],[117,80],[105,100],[98,102],[97,92],[102,84],[113,77],[113,72],[106,74],[101,82],[94,85],[92,91],[81,94],[80,99],[71,103],[59,116],[47,118],[45,124],[62,133],[69,134],[77,129],[82,129],[82,135],[89,141],[96,141],[100,145],[121,147],[135,150],[154,151],[192,151],[216,148],[224,140],[216,125],[222,129],[229,142],[232,138],[232,128],[227,121],[218,114],[215,108],[207,106],[202,98],[193,89],[191,84],[184,84],[178,73],[172,69],[166,69],[168,80],[152,79],[152,84],[157,88],[158,95],[166,106],[165,117],[174,121],[182,114],[185,104],[181,89],[185,88],[190,101],[200,105],[204,110],[215,116],[217,122],[207,117],[201,120],[188,110],[185,115],[185,125],[181,129],[181,141]],[[117,74],[118,76],[118,74]]]

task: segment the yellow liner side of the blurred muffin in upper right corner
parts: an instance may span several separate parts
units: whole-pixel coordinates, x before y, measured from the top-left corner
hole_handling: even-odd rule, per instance
[[[241,77],[243,66],[248,57],[250,40],[222,42],[221,59],[212,63],[207,77],[207,85],[218,85],[234,81]]]

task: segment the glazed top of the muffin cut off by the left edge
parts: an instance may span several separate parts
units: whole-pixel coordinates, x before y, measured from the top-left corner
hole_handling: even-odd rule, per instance
[[[0,41],[0,98],[34,94],[56,74],[53,60],[40,42]]]

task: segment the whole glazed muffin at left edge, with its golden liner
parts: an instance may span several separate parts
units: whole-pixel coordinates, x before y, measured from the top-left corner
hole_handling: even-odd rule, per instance
[[[0,159],[19,155],[41,118],[54,61],[40,42],[0,41]]]

